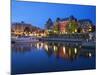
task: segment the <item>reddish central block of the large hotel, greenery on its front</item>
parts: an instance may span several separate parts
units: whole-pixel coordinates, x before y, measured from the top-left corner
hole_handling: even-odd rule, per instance
[[[77,22],[77,19],[74,18],[73,16],[70,16],[68,18],[59,19],[59,21],[57,22],[58,22],[58,31],[60,33],[77,32],[78,22]]]

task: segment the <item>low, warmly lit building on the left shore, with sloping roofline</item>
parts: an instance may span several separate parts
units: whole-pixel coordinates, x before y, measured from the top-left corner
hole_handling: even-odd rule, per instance
[[[36,34],[36,35],[35,35]],[[12,36],[37,36],[43,34],[41,33],[41,29],[35,26],[32,26],[28,23],[12,23],[11,25],[11,35]]]

